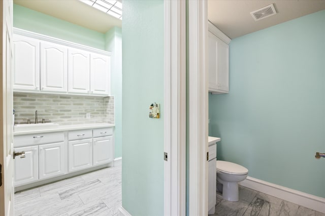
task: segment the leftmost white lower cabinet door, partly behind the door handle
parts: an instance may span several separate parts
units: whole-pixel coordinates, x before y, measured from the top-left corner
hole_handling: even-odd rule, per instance
[[[16,152],[25,151],[25,157],[15,157],[15,187],[36,182],[39,179],[38,146],[14,148]]]

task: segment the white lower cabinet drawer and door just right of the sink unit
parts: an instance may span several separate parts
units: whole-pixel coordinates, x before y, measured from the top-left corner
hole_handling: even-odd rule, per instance
[[[69,172],[92,166],[92,130],[69,132]]]

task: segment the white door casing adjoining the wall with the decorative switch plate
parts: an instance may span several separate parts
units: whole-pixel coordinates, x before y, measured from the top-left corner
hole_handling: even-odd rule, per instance
[[[164,4],[164,215],[185,215],[186,2]]]

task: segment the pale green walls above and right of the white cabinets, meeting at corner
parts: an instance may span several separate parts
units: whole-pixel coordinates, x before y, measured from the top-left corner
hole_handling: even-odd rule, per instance
[[[115,96],[115,155],[122,156],[122,32],[118,27],[106,34],[57,19],[14,4],[14,27],[60,38],[106,51],[111,58],[111,92]]]

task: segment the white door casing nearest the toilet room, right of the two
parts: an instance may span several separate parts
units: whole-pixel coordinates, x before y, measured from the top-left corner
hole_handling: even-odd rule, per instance
[[[189,215],[208,215],[207,1],[188,1]]]

